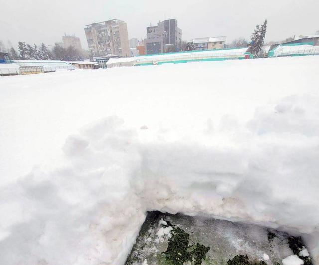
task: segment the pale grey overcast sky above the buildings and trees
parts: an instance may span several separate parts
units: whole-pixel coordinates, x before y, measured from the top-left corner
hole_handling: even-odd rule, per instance
[[[84,27],[117,18],[127,22],[129,38],[145,38],[146,27],[176,18],[182,38],[249,38],[268,19],[266,41],[319,30],[319,0],[0,0],[0,40],[53,45],[64,33],[80,37]]]

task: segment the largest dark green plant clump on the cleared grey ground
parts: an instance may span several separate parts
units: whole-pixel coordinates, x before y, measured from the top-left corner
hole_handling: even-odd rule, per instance
[[[167,264],[183,265],[185,262],[191,262],[195,265],[201,265],[203,259],[210,247],[205,247],[200,243],[188,246],[189,234],[177,226],[173,226],[170,222],[167,226],[172,226],[172,237],[168,240],[168,248],[163,253]]]

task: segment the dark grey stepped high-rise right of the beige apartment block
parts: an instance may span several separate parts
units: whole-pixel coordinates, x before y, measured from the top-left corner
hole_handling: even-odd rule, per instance
[[[146,54],[179,51],[181,46],[181,29],[176,19],[159,22],[157,26],[147,27],[144,40]]]

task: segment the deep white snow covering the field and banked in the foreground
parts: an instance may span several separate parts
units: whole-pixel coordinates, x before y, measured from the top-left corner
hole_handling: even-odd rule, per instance
[[[147,210],[306,233],[318,263],[318,66],[0,77],[0,264],[123,264]]]

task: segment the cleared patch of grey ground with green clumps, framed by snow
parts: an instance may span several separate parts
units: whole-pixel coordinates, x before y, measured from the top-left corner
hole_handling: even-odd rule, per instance
[[[163,228],[164,236],[159,236],[157,233]],[[254,238],[255,229],[263,233],[264,238]],[[236,233],[241,236],[238,237]],[[256,249],[245,251],[234,248],[224,234],[252,243],[252,247],[256,240]],[[154,265],[281,265],[282,259],[292,254],[302,259],[305,265],[312,265],[310,256],[299,256],[300,251],[306,248],[301,237],[293,237],[272,228],[182,214],[149,212],[126,265],[141,265],[144,261]],[[281,250],[285,250],[285,254],[280,254]],[[270,254],[268,261],[260,257],[261,251]]]

